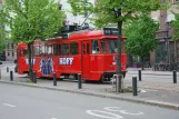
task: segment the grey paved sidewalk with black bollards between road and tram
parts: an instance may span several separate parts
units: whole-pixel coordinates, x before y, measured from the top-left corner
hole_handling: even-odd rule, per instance
[[[14,73],[14,81],[9,81],[9,73],[2,71],[2,78],[0,83],[13,83],[28,87],[76,92],[82,95],[91,95],[98,97],[106,97],[132,102],[140,102],[147,105],[155,105],[171,109],[179,110],[179,83],[166,83],[158,81],[146,81],[145,79],[138,82],[138,87],[142,92],[139,92],[137,97],[133,97],[131,92],[116,93],[112,92],[112,86],[110,83],[82,83],[82,89],[78,89],[77,81],[63,80],[58,81],[57,87],[53,86],[52,79],[38,79],[38,83],[30,83],[29,78]],[[131,86],[130,75],[128,79],[125,79],[126,86]]]

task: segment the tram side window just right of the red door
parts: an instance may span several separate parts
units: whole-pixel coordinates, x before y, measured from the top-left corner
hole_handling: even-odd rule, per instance
[[[99,54],[100,53],[100,46],[99,46],[99,42],[98,41],[99,40],[91,40],[91,53],[92,54]],[[99,49],[99,51],[97,51],[97,49]]]

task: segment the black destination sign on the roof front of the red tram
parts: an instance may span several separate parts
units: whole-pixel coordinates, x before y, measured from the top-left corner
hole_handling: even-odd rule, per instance
[[[103,34],[105,36],[118,36],[118,29],[117,28],[103,28]]]

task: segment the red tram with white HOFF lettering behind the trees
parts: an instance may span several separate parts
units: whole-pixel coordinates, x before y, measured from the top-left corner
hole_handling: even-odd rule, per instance
[[[66,33],[62,37],[33,43],[33,71],[37,77],[57,78],[81,73],[82,80],[110,80],[116,73],[117,29],[82,30]],[[127,54],[122,37],[121,70],[127,72]],[[18,72],[29,70],[27,44],[18,44]]]

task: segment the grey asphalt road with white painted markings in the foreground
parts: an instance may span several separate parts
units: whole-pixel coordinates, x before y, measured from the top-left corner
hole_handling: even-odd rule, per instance
[[[179,111],[0,83],[0,119],[179,119]]]

